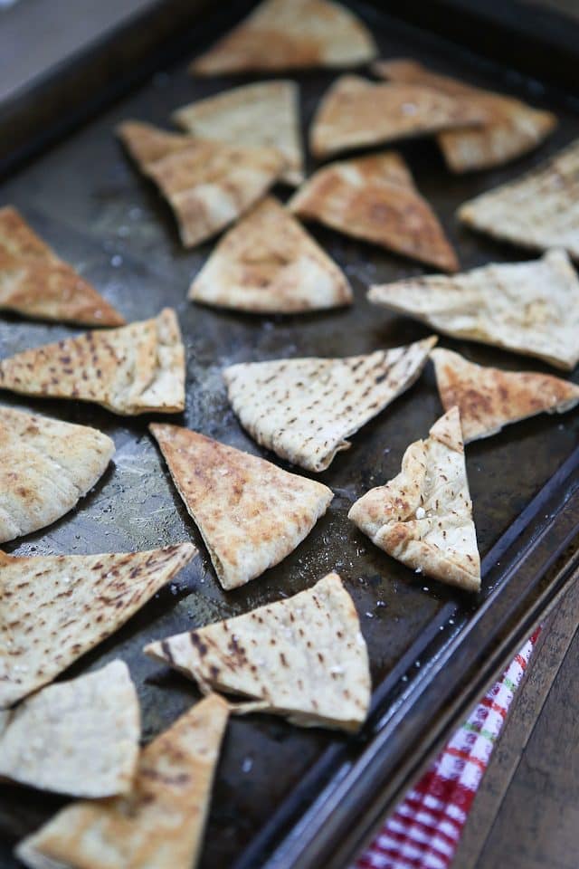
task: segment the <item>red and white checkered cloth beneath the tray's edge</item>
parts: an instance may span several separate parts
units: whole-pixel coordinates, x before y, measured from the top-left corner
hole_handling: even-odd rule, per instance
[[[388,817],[352,869],[448,869],[540,628]]]

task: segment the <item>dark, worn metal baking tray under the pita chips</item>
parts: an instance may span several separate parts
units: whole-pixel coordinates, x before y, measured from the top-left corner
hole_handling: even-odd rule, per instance
[[[353,284],[356,304],[351,310],[252,317],[185,300],[187,286],[213,244],[189,252],[181,247],[168,206],[129,164],[113,129],[126,118],[168,128],[170,112],[185,102],[259,78],[195,80],[185,72],[186,62],[251,5],[242,0],[200,12],[203,4],[195,4],[187,28],[179,18],[178,37],[167,43],[165,30],[165,42],[155,51],[147,42],[147,59],[139,33],[131,42],[125,29],[123,74],[119,44],[111,36],[100,45],[100,63],[95,63],[110,73],[111,59],[116,58],[119,75],[115,87],[108,83],[100,98],[82,78],[81,67],[71,66],[52,77],[52,86],[61,89],[54,104],[62,105],[59,100],[68,88],[68,113],[58,112],[52,125],[46,122],[42,134],[37,131],[24,150],[5,153],[10,173],[0,184],[0,204],[20,208],[127,320],[153,316],[163,305],[174,306],[186,346],[187,401],[185,413],[172,421],[273,458],[238,425],[226,400],[223,366],[365,353],[420,339],[428,330],[365,301],[368,283],[419,274],[420,266],[313,224],[311,232]],[[556,111],[559,128],[543,147],[495,171],[454,177],[430,140],[396,148],[441,216],[463,268],[525,259],[516,247],[471,234],[457,223],[454,212],[464,200],[516,177],[579,136],[579,115],[569,92],[482,59],[377,5],[349,5],[370,24],[383,56],[411,55],[442,72]],[[460,15],[458,7],[455,15]],[[452,26],[458,25],[453,17]],[[146,27],[147,18],[133,26]],[[131,46],[140,46],[141,54]],[[90,91],[90,104],[78,94],[72,99],[75,69],[77,84],[86,84],[86,93]],[[307,129],[335,73],[293,77],[300,84]],[[28,112],[32,119],[33,100],[30,95],[23,100],[23,117]],[[55,144],[49,147],[49,141]],[[283,198],[288,194],[287,188],[276,192]],[[76,331],[2,315],[0,356]],[[482,345],[451,339],[441,339],[441,344],[483,364],[550,370],[535,360]],[[319,475],[336,497],[308,539],[278,567],[228,593],[219,587],[200,536],[147,435],[147,423],[155,417],[122,418],[96,406],[24,400],[9,393],[2,393],[0,402],[95,425],[117,445],[114,464],[78,509],[6,545],[7,551],[80,554],[146,549],[178,540],[194,540],[199,546],[201,558],[185,568],[172,587],[159,592],[128,625],[65,673],[72,677],[117,655],[124,658],[138,684],[145,740],[165,729],[199,696],[193,683],[141,653],[148,641],[294,594],[331,569],[337,569],[354,597],[372,666],[369,721],[358,736],[346,737],[299,729],[266,715],[233,719],[215,781],[201,860],[204,869],[346,866],[432,757],[451,723],[468,711],[508,654],[561,596],[577,568],[576,556],[560,559],[553,568],[579,531],[577,412],[539,416],[469,445],[470,492],[484,557],[478,596],[414,574],[376,549],[346,520],[352,501],[394,476],[407,445],[426,435],[441,415],[430,365],[410,391],[365,425],[352,438],[352,448]],[[17,865],[11,855],[14,842],[63,802],[31,788],[0,787],[2,867]]]

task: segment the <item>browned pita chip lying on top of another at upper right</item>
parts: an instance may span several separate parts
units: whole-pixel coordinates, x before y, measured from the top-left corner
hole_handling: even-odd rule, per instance
[[[480,124],[483,110],[421,84],[384,84],[342,75],[322,98],[309,135],[318,158],[397,138]]]

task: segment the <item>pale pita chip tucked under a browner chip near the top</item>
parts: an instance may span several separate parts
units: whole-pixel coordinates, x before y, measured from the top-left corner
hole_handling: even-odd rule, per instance
[[[285,163],[280,181],[304,179],[299,135],[299,89],[295,81],[256,81],[173,113],[186,132],[244,148],[275,148]]]

